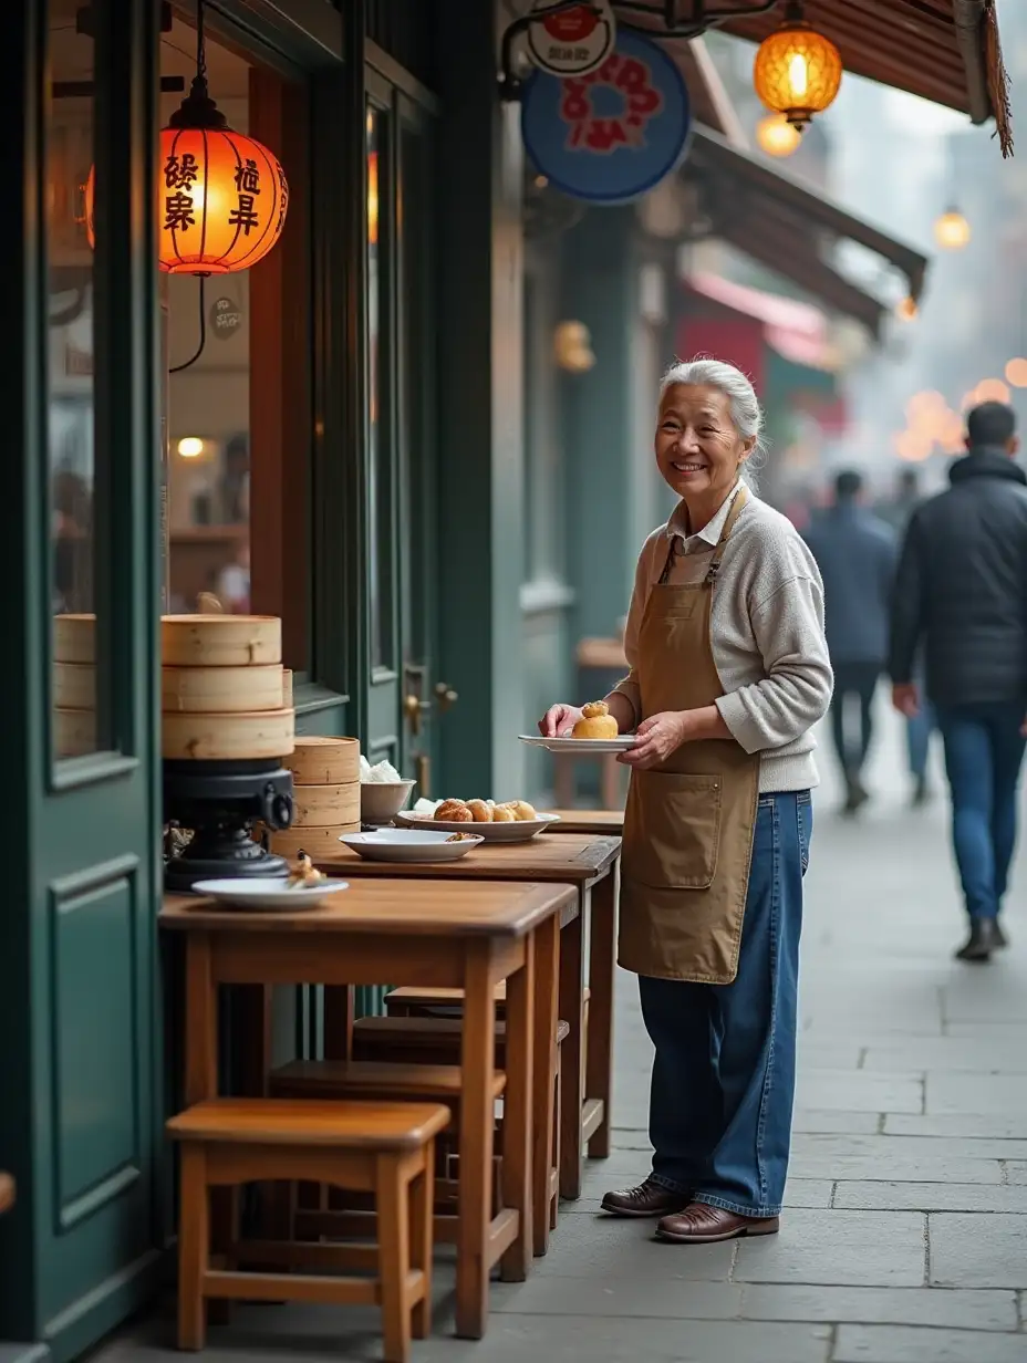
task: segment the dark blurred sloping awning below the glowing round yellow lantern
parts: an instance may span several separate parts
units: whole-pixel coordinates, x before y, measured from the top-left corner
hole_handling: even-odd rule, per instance
[[[696,129],[681,173],[698,185],[713,236],[862,323],[874,337],[888,305],[839,274],[824,258],[825,243],[857,241],[906,275],[914,300],[921,296],[926,256],[716,132]]]

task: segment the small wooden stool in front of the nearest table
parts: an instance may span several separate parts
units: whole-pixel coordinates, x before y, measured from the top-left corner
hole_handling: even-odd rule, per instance
[[[439,1104],[289,1103],[213,1099],[168,1123],[181,1142],[179,1348],[202,1349],[205,1302],[321,1302],[382,1306],[383,1358],[408,1363],[411,1338],[431,1328],[431,1187]],[[210,1266],[213,1187],[308,1179],[372,1193],[378,1244],[240,1240],[230,1269]],[[321,1270],[240,1273],[239,1262]],[[375,1277],[333,1277],[368,1272]]]

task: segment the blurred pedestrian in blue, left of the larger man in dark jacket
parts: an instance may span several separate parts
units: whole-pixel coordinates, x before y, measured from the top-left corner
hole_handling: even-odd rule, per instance
[[[839,473],[835,502],[806,532],[824,579],[828,649],[835,669],[831,732],[846,780],[846,812],[867,800],[863,766],[873,702],[888,657],[888,612],[897,557],[895,533],[862,506],[863,480]],[[855,724],[847,724],[854,718]],[[854,732],[852,732],[854,731]]]

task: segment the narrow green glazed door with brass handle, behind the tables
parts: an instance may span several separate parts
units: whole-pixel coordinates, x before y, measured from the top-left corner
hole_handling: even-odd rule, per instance
[[[367,75],[366,750],[432,793],[438,724],[456,696],[435,673],[435,345],[431,113]]]

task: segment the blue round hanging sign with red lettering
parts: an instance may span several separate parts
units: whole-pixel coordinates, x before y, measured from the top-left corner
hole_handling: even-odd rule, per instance
[[[689,91],[675,61],[637,33],[616,35],[597,71],[536,71],[521,101],[521,135],[554,189],[586,203],[630,203],[681,161],[691,132]]]

